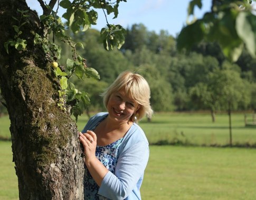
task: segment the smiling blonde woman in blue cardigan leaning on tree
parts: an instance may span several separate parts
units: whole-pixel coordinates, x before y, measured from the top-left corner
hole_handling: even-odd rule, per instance
[[[91,117],[79,133],[84,147],[84,199],[141,199],[149,148],[136,122],[151,117],[147,81],[121,73],[102,94],[108,113]]]

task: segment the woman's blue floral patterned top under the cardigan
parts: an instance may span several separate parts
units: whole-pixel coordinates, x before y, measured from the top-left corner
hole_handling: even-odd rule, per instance
[[[100,122],[102,122],[103,119]],[[91,129],[91,131],[94,131],[94,129],[98,126],[99,123],[97,123],[97,125],[94,126]],[[96,153],[95,153],[96,157],[113,174],[115,174],[115,168],[116,168],[117,160],[118,160],[117,152],[118,152],[118,148],[119,148],[120,144],[122,143],[122,139],[123,139],[123,137],[118,139],[116,142],[113,142],[106,146],[96,146]],[[98,191],[99,191],[99,186],[93,180],[90,172],[88,171],[87,167],[85,166],[84,199],[88,199],[88,200],[108,199],[106,197],[99,195]]]

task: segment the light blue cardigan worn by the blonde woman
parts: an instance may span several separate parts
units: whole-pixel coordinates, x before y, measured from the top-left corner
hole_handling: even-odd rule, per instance
[[[91,117],[82,133],[94,127],[108,113],[98,113]],[[115,174],[108,172],[102,180],[99,195],[109,199],[141,199],[139,188],[143,181],[148,162],[148,141],[143,130],[134,123],[118,149]]]

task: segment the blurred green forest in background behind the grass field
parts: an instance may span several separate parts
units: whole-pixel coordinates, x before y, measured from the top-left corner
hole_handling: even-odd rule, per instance
[[[82,41],[84,48],[77,51],[86,58],[87,67],[100,74],[100,81],[71,78],[80,91],[89,93],[88,113],[105,109],[99,94],[127,69],[147,79],[155,112],[207,110],[214,121],[216,111],[256,111],[256,59],[245,49],[235,63],[223,56],[216,43],[200,43],[190,52],[180,52],[175,37],[166,31],[148,31],[143,24],[127,28],[126,42],[120,50],[106,51],[96,29],[72,37]],[[59,63],[65,65],[71,49],[57,43],[62,47]],[[0,113],[7,113],[2,104]]]

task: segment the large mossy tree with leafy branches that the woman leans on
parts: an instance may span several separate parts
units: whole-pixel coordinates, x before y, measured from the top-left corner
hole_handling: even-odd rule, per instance
[[[121,0],[57,1],[48,5],[38,0],[40,18],[25,0],[0,2],[0,87],[11,121],[12,151],[20,199],[83,199],[83,158],[76,118],[89,103],[88,94],[78,91],[71,76],[99,78],[77,54],[81,43],[72,42],[58,16],[55,4],[74,33],[86,31],[97,22],[101,8],[118,15]],[[58,37],[72,52],[59,67]],[[109,50],[124,43],[124,29],[108,24],[101,30],[101,42]]]

